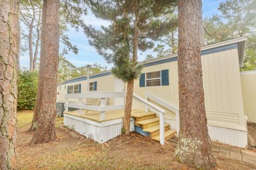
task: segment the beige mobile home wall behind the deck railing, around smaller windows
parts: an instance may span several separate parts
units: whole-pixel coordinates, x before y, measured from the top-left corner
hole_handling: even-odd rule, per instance
[[[113,75],[107,75],[102,77],[96,77],[90,78],[89,82],[97,82],[97,91],[111,91],[114,92],[114,76]],[[87,91],[87,80],[81,80],[78,82],[73,83],[63,83],[59,84],[57,87],[57,102],[65,102],[65,94],[68,92],[68,86],[70,85],[76,85],[81,84],[81,93],[86,93]],[[66,89],[65,89],[66,86]],[[58,94],[59,93],[59,94]],[[78,102],[79,99],[70,99],[69,102]],[[83,99],[83,102],[86,102],[85,99]],[[113,105],[114,99],[109,99],[108,104]]]

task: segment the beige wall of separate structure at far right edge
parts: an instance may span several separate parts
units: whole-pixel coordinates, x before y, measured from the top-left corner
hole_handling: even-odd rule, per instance
[[[241,84],[247,121],[256,123],[256,71],[241,72]]]

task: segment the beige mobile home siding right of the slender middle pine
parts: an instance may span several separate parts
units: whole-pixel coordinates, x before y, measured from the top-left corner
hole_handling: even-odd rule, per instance
[[[164,69],[169,69],[168,86],[139,87],[138,79],[134,94],[145,98],[145,93],[150,93],[179,107],[177,61],[145,67],[142,72]],[[237,49],[202,55],[202,69],[208,124],[246,131]],[[134,100],[132,107],[145,109]],[[167,117],[173,118],[173,114]]]

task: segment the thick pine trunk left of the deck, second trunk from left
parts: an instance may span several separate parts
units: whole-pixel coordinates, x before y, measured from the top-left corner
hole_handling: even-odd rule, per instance
[[[37,129],[31,144],[46,143],[56,139],[55,102],[59,62],[59,10],[59,0],[44,0],[38,91],[34,110],[37,116]]]

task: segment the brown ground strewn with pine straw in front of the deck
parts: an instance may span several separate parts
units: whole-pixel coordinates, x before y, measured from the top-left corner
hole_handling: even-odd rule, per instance
[[[131,133],[105,144],[93,142],[63,127],[57,117],[57,140],[29,145],[33,111],[18,112],[18,169],[194,169],[174,159],[175,148]],[[255,169],[250,164],[218,156],[217,169]]]

